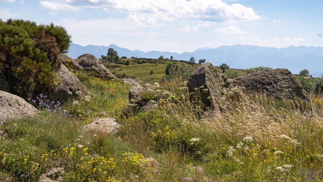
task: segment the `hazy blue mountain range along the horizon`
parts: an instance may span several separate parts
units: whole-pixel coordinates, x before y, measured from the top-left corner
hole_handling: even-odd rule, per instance
[[[189,60],[194,57],[196,62],[199,59],[206,59],[214,65],[226,63],[230,68],[248,69],[258,66],[267,66],[271,68],[287,68],[293,74],[307,69],[313,77],[321,77],[323,72],[323,47],[307,46],[289,46],[286,48],[271,48],[248,45],[220,46],[218,48],[198,48],[193,52],[175,52],[140,50],[131,51],[126,48],[120,48],[114,44],[109,46],[81,46],[71,43],[68,55],[72,58],[88,53],[100,58],[106,55],[108,48],[113,48],[120,57],[131,56],[138,58],[164,58],[173,56],[177,60]]]

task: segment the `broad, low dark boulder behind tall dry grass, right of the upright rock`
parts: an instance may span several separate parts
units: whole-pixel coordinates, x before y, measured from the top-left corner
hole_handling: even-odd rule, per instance
[[[245,87],[248,93],[264,93],[269,97],[308,98],[307,92],[287,69],[263,70],[232,80],[231,85]]]

